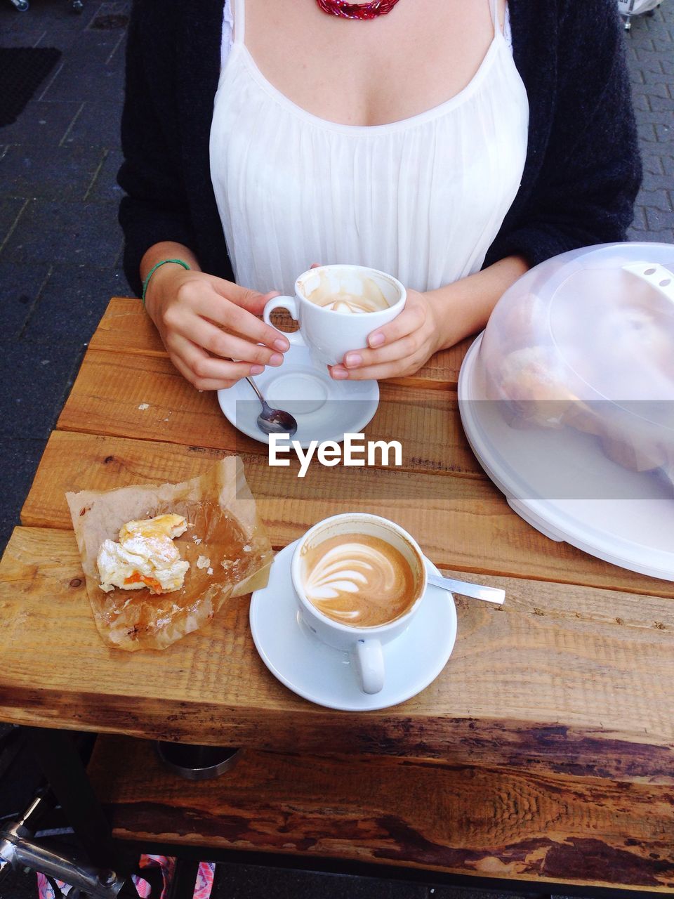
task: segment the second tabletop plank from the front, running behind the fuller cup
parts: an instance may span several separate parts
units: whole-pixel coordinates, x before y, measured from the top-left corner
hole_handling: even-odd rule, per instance
[[[179,482],[203,473],[216,449],[54,432],[22,511],[22,522],[70,528],[67,490],[111,490],[147,482]],[[248,483],[275,547],[297,539],[337,512],[375,512],[398,521],[441,567],[475,574],[674,597],[674,583],[609,565],[566,543],[555,543],[510,510],[486,480],[438,477],[395,469],[269,467],[243,454]]]

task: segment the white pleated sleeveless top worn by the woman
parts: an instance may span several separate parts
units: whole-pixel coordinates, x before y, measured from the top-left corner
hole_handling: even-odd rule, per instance
[[[292,295],[312,263],[351,263],[423,291],[479,271],[519,189],[528,140],[527,92],[496,0],[492,44],[462,91],[362,127],[321,119],[271,85],[244,43],[244,0],[234,2],[210,174],[237,283]]]

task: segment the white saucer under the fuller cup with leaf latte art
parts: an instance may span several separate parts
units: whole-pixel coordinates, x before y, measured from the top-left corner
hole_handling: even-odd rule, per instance
[[[407,630],[384,646],[386,678],[379,693],[363,693],[350,655],[321,643],[298,617],[290,579],[297,546],[281,549],[271,565],[269,583],[253,593],[251,631],[270,672],[298,696],[341,711],[371,711],[416,696],[448,662],[457,636],[457,610],[451,593],[430,586]],[[439,574],[426,559],[428,570]]]

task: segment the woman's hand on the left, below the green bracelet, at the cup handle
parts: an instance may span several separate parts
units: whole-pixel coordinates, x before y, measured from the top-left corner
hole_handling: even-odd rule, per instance
[[[146,310],[176,369],[199,390],[220,390],[283,362],[288,340],[257,317],[275,296],[166,264],[148,284]]]

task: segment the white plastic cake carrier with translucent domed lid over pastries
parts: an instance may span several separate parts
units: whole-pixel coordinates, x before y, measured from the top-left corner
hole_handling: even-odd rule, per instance
[[[539,530],[567,539],[560,515],[575,515],[618,564],[626,532],[635,557],[661,539],[674,551],[653,523],[674,528],[674,245],[584,247],[528,271],[466,356],[459,404],[483,467]],[[656,500],[669,506],[642,502]],[[640,530],[619,533],[616,515]],[[639,565],[674,578],[663,557]]]

